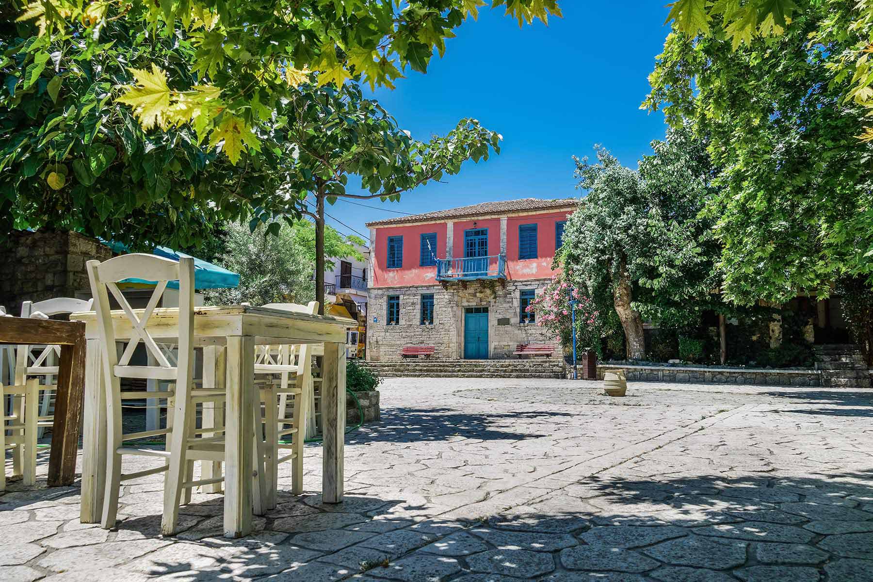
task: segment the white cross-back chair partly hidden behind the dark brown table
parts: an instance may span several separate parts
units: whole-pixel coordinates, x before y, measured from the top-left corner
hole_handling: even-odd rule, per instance
[[[23,318],[51,318],[55,315],[68,315],[72,312],[90,312],[93,299],[58,297],[33,303],[24,301],[21,305]],[[15,383],[24,384],[24,379],[41,376],[43,384],[39,387],[40,406],[37,438],[42,438],[45,427],[54,423],[52,400],[58,390],[57,375],[60,359],[60,346],[18,346],[16,353]]]

